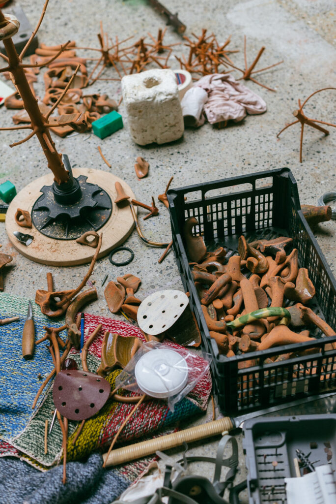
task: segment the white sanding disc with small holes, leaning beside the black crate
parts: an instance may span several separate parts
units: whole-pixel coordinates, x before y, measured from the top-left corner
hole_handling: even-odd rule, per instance
[[[155,336],[173,326],[189,303],[180,290],[159,290],[146,297],[139,306],[137,321],[140,329]]]

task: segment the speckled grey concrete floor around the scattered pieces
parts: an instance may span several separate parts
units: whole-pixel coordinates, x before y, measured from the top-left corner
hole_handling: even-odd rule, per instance
[[[331,0],[249,0],[237,2],[192,2],[185,0],[165,0],[164,5],[172,12],[179,12],[180,19],[187,25],[186,35],[199,34],[207,28],[224,42],[231,35],[231,49],[240,49],[234,55],[238,66],[243,66],[243,35],[247,36],[248,61],[252,61],[261,46],[266,50],[260,61],[265,67],[274,62],[284,63],[260,76],[262,83],[277,89],[276,93],[267,91],[253,82],[247,86],[262,96],[268,106],[265,114],[247,116],[241,123],[229,125],[224,130],[216,130],[206,124],[198,130],[186,130],[183,139],[173,144],[140,147],[134,144],[128,134],[127,116],[123,104],[120,113],[124,120],[124,129],[111,137],[100,140],[95,135],[82,134],[72,138],[60,139],[54,136],[59,152],[68,154],[73,166],[94,167],[109,171],[122,177],[132,187],[140,201],[148,202],[149,197],[162,193],[166,182],[174,175],[172,187],[189,183],[201,183],[236,174],[253,173],[287,166],[291,168],[298,182],[301,203],[316,204],[317,199],[327,191],[335,191],[336,169],[334,152],[336,131],[329,128],[330,135],[324,137],[319,132],[306,128],[303,143],[303,162],[299,163],[300,132],[297,125],[287,130],[280,140],[276,134],[284,125],[293,120],[292,112],[297,108],[297,99],[304,100],[313,91],[335,86],[335,50],[334,50],[334,12]],[[43,2],[22,0],[21,7],[32,26],[38,21]],[[6,9],[4,9],[6,12]],[[147,32],[155,35],[164,25],[145,0],[95,0],[79,2],[68,0],[60,2],[50,0],[45,19],[39,31],[39,40],[47,45],[75,40],[78,46],[98,47],[97,33],[99,22],[104,21],[104,29],[110,36],[119,39],[134,35],[136,40]],[[167,29],[165,41],[175,43],[181,38]],[[175,53],[186,54],[183,45],[176,47]],[[96,56],[95,52],[78,51],[81,56]],[[172,57],[171,68],[178,68]],[[112,70],[106,77],[115,77]],[[239,75],[236,73],[236,77]],[[40,75],[35,86],[37,94],[43,96],[43,79]],[[121,95],[119,82],[98,81],[88,93],[105,92],[111,98]],[[334,115],[334,91],[325,91],[315,96],[306,108],[309,116],[336,122]],[[12,124],[13,111],[4,107],[0,111],[0,126]],[[14,149],[9,144],[23,138],[20,132],[1,132],[0,145],[2,167],[0,183],[9,179],[19,192],[32,180],[48,171],[45,158],[36,138]],[[102,161],[98,146],[112,168]],[[134,159],[144,157],[150,163],[149,176],[138,180],[134,173]],[[140,215],[144,215],[140,211]],[[170,241],[170,221],[167,210],[160,205],[158,217],[141,221],[144,234],[156,241]],[[330,268],[334,271],[335,259],[335,222],[323,223],[314,230]],[[0,225],[0,243],[2,251],[14,256],[13,266],[8,267],[5,276],[5,292],[35,297],[37,288],[46,287],[46,273],[52,271],[55,286],[58,289],[72,288],[77,285],[87,271],[87,266],[72,268],[50,268],[33,263],[21,255],[11,245],[5,231],[5,224]],[[101,287],[105,274],[109,280],[131,272],[142,278],[138,292],[140,298],[157,289],[183,289],[173,254],[159,265],[160,249],[146,246],[136,232],[127,239],[125,245],[131,247],[135,259],[130,266],[112,267],[108,258],[100,260],[92,279],[96,280],[99,299],[88,310],[109,316]],[[210,419],[211,412],[207,415]],[[203,417],[200,421],[205,421]],[[239,438],[240,439],[240,438]],[[214,453],[217,442],[199,444],[194,453]],[[240,471],[237,481],[244,476],[244,460],[240,450]],[[195,467],[198,474],[212,475],[212,469]],[[246,495],[243,502],[247,502]]]

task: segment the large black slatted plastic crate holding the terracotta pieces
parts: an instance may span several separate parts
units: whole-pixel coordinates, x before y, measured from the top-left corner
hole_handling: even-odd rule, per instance
[[[311,395],[336,391],[336,349],[325,346],[335,337],[325,338],[318,330],[314,343],[250,352],[226,357],[219,355],[210,338],[201,303],[188,264],[183,226],[195,216],[207,247],[225,246],[227,258],[238,254],[238,238],[248,241],[277,236],[293,238],[300,267],[307,268],[316,295],[309,306],[333,329],[336,327],[336,282],[300,210],[295,178],[288,168],[241,175],[170,190],[167,193],[173,234],[173,249],[183,285],[190,293],[190,305],[202,333],[202,348],[213,356],[211,364],[214,392],[223,414],[260,410]],[[293,304],[293,303],[289,303]],[[311,327],[309,328],[311,329]],[[264,360],[280,353],[318,348],[318,353],[273,364]],[[240,369],[239,363],[259,358],[259,365]],[[333,372],[332,372],[333,371]]]

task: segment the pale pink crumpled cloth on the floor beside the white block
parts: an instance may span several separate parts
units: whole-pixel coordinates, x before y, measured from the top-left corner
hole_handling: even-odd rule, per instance
[[[210,124],[229,119],[238,122],[246,113],[266,112],[265,101],[230,74],[206,75],[194,86],[199,86],[208,93],[204,111]]]

